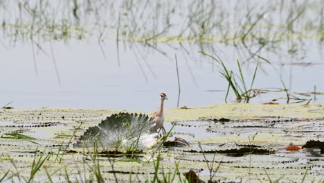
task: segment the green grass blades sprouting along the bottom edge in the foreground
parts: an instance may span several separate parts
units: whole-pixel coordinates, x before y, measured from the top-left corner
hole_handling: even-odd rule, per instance
[[[253,137],[251,137],[253,138]],[[253,139],[252,139],[253,140]],[[201,146],[199,146],[201,148]],[[83,159],[81,165],[84,167],[83,171],[78,169],[78,174],[70,174],[69,173],[69,166],[68,165],[63,165],[63,164],[57,164],[60,165],[58,167],[57,171],[60,169],[64,170],[64,177],[66,179],[66,182],[107,182],[107,180],[104,179],[104,172],[107,170],[105,168],[102,168],[100,165],[101,161],[105,161],[104,159],[99,159],[98,158],[98,146],[95,144],[94,148],[87,148],[89,150],[87,153],[84,153],[84,155],[87,155],[89,158],[86,160],[85,158]],[[47,166],[44,166],[44,164],[53,164],[53,160],[51,160],[51,153],[46,153],[46,150],[39,151],[38,149],[35,150],[35,157],[33,159],[33,164],[30,166],[30,174],[28,177],[24,177],[18,173],[13,173],[11,170],[8,171],[3,171],[0,173],[0,182],[2,181],[10,181],[13,180],[13,178],[18,178],[21,180],[24,180],[24,182],[37,182],[35,181],[35,178],[37,177],[37,174],[40,171],[45,171],[47,180],[46,182],[54,182],[53,177],[55,176],[62,176],[62,173],[58,174],[57,171],[53,171],[52,173],[49,173]],[[201,148],[201,152],[204,152]],[[206,165],[208,167],[208,171],[210,172],[210,178],[208,182],[214,182],[215,179],[218,180],[216,173],[219,170],[219,167],[221,164],[215,164],[215,155],[213,156],[213,159],[208,161],[204,153],[202,154],[204,157],[204,162],[206,162]],[[114,162],[116,159],[108,159],[109,162],[111,162],[111,170],[114,172]],[[144,162],[145,163],[145,162]],[[186,179],[186,177],[183,175],[183,172],[179,170],[179,167],[181,165],[181,161],[174,162],[174,166],[170,166],[168,168],[165,168],[163,166],[163,160],[162,160],[162,154],[159,151],[159,153],[156,153],[156,157],[154,157],[154,161],[152,163],[152,170],[154,170],[154,174],[150,175],[149,173],[144,174],[144,179],[145,182],[174,182],[177,180],[177,182],[192,182],[190,180]],[[54,163],[55,164],[55,163]],[[14,165],[15,166],[15,165]],[[72,167],[72,166],[71,166]],[[86,168],[87,167],[87,168]],[[73,166],[75,168],[75,166]],[[195,167],[187,167],[189,168],[195,168]],[[168,170],[168,171],[165,171]],[[305,173],[303,174],[303,178],[300,180],[300,182],[305,182],[306,177],[308,175],[307,173],[308,168],[306,168]],[[12,173],[12,175],[10,175]],[[82,175],[84,173],[84,175]],[[267,175],[267,182],[280,182],[284,176],[281,176],[277,178],[276,180],[273,180],[271,175],[264,170],[265,175]],[[120,182],[120,178],[116,173],[113,173],[114,179],[109,180],[109,181],[114,181],[114,182]],[[216,178],[215,178],[216,177]],[[121,182],[138,182],[139,180],[143,181],[143,178],[138,177],[138,175],[132,175],[132,173],[129,174],[128,180],[123,180]],[[259,180],[260,182],[264,182],[263,180]],[[294,180],[296,181],[296,180]],[[313,181],[314,182],[314,181]],[[320,181],[321,182],[321,181]],[[323,182],[322,182],[323,183]]]

